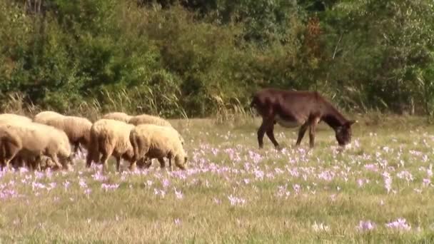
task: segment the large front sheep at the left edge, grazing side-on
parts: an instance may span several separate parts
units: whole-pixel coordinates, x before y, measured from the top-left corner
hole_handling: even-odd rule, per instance
[[[48,156],[58,168],[69,166],[68,161],[71,161],[66,133],[40,123],[0,124],[0,149],[3,151],[1,162],[6,168],[16,157],[39,161],[42,155]]]

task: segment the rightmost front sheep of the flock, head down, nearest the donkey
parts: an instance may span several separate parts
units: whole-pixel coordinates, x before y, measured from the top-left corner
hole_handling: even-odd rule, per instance
[[[168,158],[169,167],[172,169],[171,161],[181,170],[186,169],[188,159],[183,149],[178,131],[167,126],[156,126],[153,124],[141,124],[133,128],[130,133],[130,141],[134,150],[133,161],[143,158],[157,158],[161,168],[164,167],[163,158]],[[146,168],[151,163],[146,164]]]

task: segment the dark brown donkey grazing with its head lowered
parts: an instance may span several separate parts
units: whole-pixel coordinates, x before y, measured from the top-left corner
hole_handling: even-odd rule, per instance
[[[335,131],[340,146],[351,141],[351,125],[356,121],[348,121],[339,111],[316,91],[285,91],[265,88],[258,91],[250,104],[262,117],[258,129],[259,148],[263,148],[263,136],[266,133],[276,148],[280,148],[274,138],[274,125],[286,128],[301,126],[298,131],[296,146],[299,146],[309,127],[309,146],[315,144],[315,129],[320,121],[324,121]]]

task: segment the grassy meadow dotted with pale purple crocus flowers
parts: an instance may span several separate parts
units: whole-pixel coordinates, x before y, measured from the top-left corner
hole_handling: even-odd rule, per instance
[[[188,170],[0,173],[0,243],[410,243],[434,241],[434,127],[353,129],[340,151],[321,124],[308,135],[258,123],[177,121]]]

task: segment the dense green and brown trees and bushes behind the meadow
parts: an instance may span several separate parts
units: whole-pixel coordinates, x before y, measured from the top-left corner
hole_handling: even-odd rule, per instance
[[[0,106],[203,117],[273,86],[433,115],[433,29],[430,0],[0,0]]]

